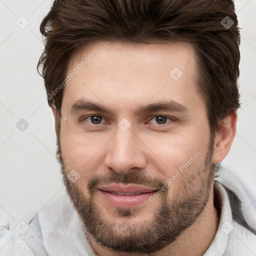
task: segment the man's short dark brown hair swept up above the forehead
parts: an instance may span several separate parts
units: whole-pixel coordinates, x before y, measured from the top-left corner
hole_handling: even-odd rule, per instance
[[[194,46],[212,135],[218,121],[239,107],[240,33],[231,0],[55,0],[40,32],[45,48],[37,70],[42,66],[47,95],[64,81],[74,51],[88,43],[174,40]],[[54,94],[48,104],[58,112],[62,90]]]

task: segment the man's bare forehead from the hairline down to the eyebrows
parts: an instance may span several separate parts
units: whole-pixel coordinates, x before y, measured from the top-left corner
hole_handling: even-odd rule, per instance
[[[194,56],[192,45],[179,42],[91,43],[69,61],[66,75],[75,75],[64,87],[62,103],[89,97],[126,107],[160,98],[189,104],[191,97],[200,100]]]

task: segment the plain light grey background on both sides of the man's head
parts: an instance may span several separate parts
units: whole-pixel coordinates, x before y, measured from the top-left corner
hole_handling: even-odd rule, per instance
[[[55,131],[36,64],[43,50],[39,24],[51,0],[0,0],[0,221],[16,213],[28,221],[63,193],[55,159]],[[237,134],[222,162],[256,179],[256,0],[235,0],[241,29]],[[20,17],[24,16],[24,17]],[[26,24],[29,24],[23,28]],[[21,26],[21,29],[19,26]],[[24,118],[29,126],[20,131]]]

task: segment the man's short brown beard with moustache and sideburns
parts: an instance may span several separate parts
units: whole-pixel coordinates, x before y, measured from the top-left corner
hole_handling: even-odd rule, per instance
[[[60,131],[60,125],[57,131]],[[88,180],[87,186],[84,187],[88,191],[88,195],[85,196],[82,188],[78,187],[76,183],[72,183],[66,176],[70,170],[67,170],[61,155],[59,133],[57,133],[57,155],[63,183],[79,215],[87,239],[91,235],[96,242],[114,251],[147,255],[159,251],[175,241],[186,228],[198,219],[209,200],[214,182],[214,165],[210,163],[213,144],[214,139],[211,138],[205,159],[200,167],[192,169],[190,166],[186,173],[181,174],[183,180],[178,189],[173,190],[172,199],[168,198],[168,187],[162,192],[156,200],[160,205],[153,212],[151,219],[134,221],[135,213],[143,209],[140,207],[107,209],[105,214],[111,214],[111,210],[114,210],[115,215],[118,214],[118,220],[121,219],[118,222],[116,216],[113,216],[112,221],[104,218],[102,209],[100,209],[103,206],[99,207],[96,204],[95,192],[98,184],[132,183],[160,189],[166,181],[150,177],[145,172],[134,171],[119,174],[112,171],[104,176],[92,176]],[[173,186],[173,184],[171,185]],[[145,207],[150,206],[146,205]]]

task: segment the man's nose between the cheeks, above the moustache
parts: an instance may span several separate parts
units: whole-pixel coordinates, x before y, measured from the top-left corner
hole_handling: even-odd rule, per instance
[[[105,166],[120,174],[132,168],[143,169],[146,165],[143,149],[145,151],[145,145],[132,127],[127,131],[117,127],[115,136],[108,143]]]

